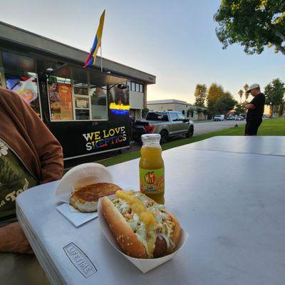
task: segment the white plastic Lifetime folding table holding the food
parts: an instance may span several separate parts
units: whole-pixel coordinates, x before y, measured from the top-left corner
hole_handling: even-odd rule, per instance
[[[283,285],[285,157],[280,146],[259,142],[247,142],[242,152],[202,149],[205,142],[201,149],[163,152],[165,205],[190,238],[174,259],[146,274],[110,246],[98,219],[76,228],[56,211],[58,182],[22,193],[16,199],[19,221],[52,284]],[[138,162],[108,167],[114,182],[138,187]],[[88,257],[87,273],[68,257],[73,249]]]

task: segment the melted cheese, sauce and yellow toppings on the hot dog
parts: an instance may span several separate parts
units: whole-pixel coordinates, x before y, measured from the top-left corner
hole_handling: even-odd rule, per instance
[[[144,244],[149,257],[157,255],[158,247],[175,247],[171,240],[175,223],[164,212],[163,205],[148,199],[140,192],[121,190],[116,192],[116,198],[112,202]]]

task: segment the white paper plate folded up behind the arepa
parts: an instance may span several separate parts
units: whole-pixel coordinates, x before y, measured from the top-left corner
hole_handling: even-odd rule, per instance
[[[77,165],[61,178],[56,188],[56,199],[69,203],[71,192],[76,188],[101,182],[113,183],[112,175],[104,165],[98,163]]]

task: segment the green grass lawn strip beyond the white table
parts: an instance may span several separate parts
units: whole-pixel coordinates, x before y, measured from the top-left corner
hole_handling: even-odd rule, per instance
[[[162,150],[169,150],[172,147],[179,147],[180,145],[187,145],[188,143],[197,142],[199,140],[205,140],[207,138],[212,138],[218,135],[244,135],[245,125],[239,128],[229,128],[225,130],[217,130],[216,132],[207,133],[204,135],[197,135],[193,138],[182,138],[180,140],[174,140],[172,142],[167,142],[162,145]],[[264,120],[259,128],[258,135],[285,135],[285,118],[267,119]],[[122,155],[116,155],[115,157],[110,157],[105,160],[96,161],[102,165],[110,166],[116,165],[121,162],[128,160],[133,160],[140,157],[139,151],[128,152]]]

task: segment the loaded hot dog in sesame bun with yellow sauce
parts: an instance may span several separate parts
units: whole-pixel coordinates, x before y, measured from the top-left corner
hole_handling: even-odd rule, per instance
[[[176,217],[142,192],[116,192],[101,209],[113,236],[130,257],[150,259],[175,251],[181,228]]]

